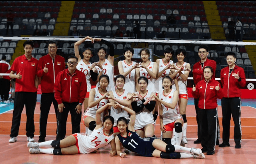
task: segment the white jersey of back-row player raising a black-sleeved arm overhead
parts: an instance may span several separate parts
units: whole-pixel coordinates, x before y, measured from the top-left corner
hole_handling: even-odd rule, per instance
[[[95,66],[95,67],[99,74],[100,67],[98,67],[98,66]],[[108,83],[107,90],[114,91],[116,89],[115,84],[114,84],[114,66],[108,61],[108,59],[105,59],[102,67],[103,67],[102,75],[108,75],[108,77],[109,77],[109,83]],[[98,82],[96,86],[100,87],[100,83]]]

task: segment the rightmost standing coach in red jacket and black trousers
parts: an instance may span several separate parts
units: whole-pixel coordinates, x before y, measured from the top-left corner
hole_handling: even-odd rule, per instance
[[[234,121],[234,140],[236,143],[235,148],[241,148],[241,90],[240,88],[246,85],[244,69],[238,67],[236,62],[236,54],[234,52],[228,52],[226,55],[228,67],[223,68],[220,71],[220,80],[222,83],[223,98],[221,100],[222,106],[222,126],[223,143],[220,147],[230,146],[230,119],[231,115]]]

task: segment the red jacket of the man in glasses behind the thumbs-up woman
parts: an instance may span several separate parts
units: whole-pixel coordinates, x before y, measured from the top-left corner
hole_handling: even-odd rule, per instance
[[[206,66],[211,66],[213,69],[213,75],[212,75],[212,79],[215,79],[215,71],[216,71],[216,61],[211,60],[211,59],[206,59],[206,61],[204,62],[204,67],[202,67],[202,65],[200,64],[201,61],[198,61],[197,63],[195,63],[193,65],[193,79],[194,79],[194,83],[195,85],[197,85],[197,83],[201,80],[204,80],[204,67]]]

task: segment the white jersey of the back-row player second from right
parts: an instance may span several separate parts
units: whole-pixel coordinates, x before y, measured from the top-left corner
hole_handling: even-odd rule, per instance
[[[164,59],[159,59],[159,72],[161,72],[165,67],[166,65],[168,65],[169,63],[170,64],[173,64],[173,61],[172,60],[169,60],[169,63],[167,63],[166,65],[164,64]],[[163,77],[169,75],[170,73],[170,70],[171,69],[166,69],[162,75],[160,77],[158,77],[158,79],[155,80],[155,88],[156,88],[156,93],[159,93],[159,92],[162,92],[163,91],[163,88],[162,88],[162,80],[163,80]]]

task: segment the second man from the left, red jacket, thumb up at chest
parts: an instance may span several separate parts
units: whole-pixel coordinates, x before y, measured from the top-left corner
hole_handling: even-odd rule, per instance
[[[46,137],[46,125],[50,111],[50,107],[53,103],[56,121],[58,114],[58,103],[54,99],[54,82],[60,71],[65,69],[65,59],[60,55],[56,55],[57,43],[55,41],[48,42],[47,55],[44,55],[38,62],[38,77],[41,78],[41,101],[40,101],[40,126],[39,126],[39,140],[38,142],[44,142]],[[58,126],[58,124],[57,124]]]

